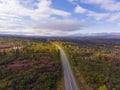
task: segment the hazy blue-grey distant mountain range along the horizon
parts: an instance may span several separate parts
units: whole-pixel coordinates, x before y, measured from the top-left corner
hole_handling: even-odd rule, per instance
[[[27,36],[27,35],[15,35],[15,34],[0,34],[0,37],[27,37],[27,38],[47,38],[47,37],[56,37],[57,36]],[[67,37],[67,38],[84,38],[84,37],[89,37],[89,38],[115,38],[115,39],[120,39],[120,33],[86,33],[86,34],[76,34],[76,35],[69,35],[69,36],[58,36],[59,38],[61,37]]]

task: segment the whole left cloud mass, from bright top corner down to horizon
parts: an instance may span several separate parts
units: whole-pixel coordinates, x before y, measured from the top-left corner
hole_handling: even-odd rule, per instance
[[[81,27],[80,21],[65,19],[71,15],[70,12],[52,8],[51,0],[39,0],[35,3],[36,8],[35,5],[33,8],[27,6],[31,0],[27,0],[25,5],[22,5],[24,0],[22,4],[20,1],[0,0],[0,33],[63,35]]]

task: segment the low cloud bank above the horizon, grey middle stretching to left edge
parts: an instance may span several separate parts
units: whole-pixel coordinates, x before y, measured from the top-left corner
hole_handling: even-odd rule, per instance
[[[1,28],[3,31],[0,31],[0,33],[17,35],[67,36],[76,30],[81,30],[82,26],[83,22],[76,19],[54,19],[48,20],[45,23],[36,23],[34,27],[29,28]]]

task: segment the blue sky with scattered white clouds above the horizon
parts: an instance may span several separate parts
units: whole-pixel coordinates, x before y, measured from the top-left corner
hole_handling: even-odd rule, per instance
[[[120,0],[0,0],[0,34],[120,33]]]

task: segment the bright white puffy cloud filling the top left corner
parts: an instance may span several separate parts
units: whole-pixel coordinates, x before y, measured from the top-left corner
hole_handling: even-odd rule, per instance
[[[65,12],[62,10],[57,10],[51,8],[50,0],[40,0],[37,4],[37,9],[30,9],[23,7],[19,0],[0,0],[0,14],[6,13],[16,16],[29,16],[31,19],[40,20],[49,18],[51,15],[60,15],[60,16],[68,16],[69,12]],[[61,14],[59,14],[62,12]]]

